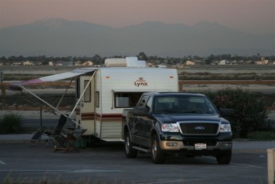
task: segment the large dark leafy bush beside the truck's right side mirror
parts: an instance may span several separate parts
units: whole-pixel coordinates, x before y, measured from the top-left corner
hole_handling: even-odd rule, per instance
[[[264,130],[267,118],[266,105],[252,92],[241,88],[224,88],[206,94],[217,108],[232,108],[228,117],[234,138],[247,138],[248,132]]]

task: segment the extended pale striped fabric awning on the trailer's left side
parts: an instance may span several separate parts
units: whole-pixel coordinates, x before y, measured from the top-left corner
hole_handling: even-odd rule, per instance
[[[30,79],[28,81],[21,81],[18,83],[11,83],[10,84],[10,90],[20,90],[20,86],[21,85],[32,85],[32,84],[36,84],[36,83],[47,83],[47,82],[53,82],[53,81],[59,81],[62,79],[68,79],[68,78],[72,78],[74,76],[79,76],[81,74],[87,74],[89,72],[94,72],[96,69],[94,68],[85,68],[85,69],[76,69],[76,70],[72,70],[70,72],[65,72],[65,73],[61,73],[61,74],[54,74],[54,75],[50,75],[50,76],[43,76],[41,78],[37,78],[37,79]]]

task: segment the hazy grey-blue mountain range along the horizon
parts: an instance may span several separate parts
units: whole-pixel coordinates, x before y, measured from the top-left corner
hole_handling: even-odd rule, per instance
[[[272,55],[274,34],[241,32],[219,23],[195,25],[144,22],[112,28],[85,21],[43,19],[0,29],[0,56],[149,56],[210,54]]]

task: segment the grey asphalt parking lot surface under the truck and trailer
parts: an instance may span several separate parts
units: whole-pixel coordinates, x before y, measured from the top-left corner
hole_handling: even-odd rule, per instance
[[[168,156],[164,165],[155,165],[149,154],[126,159],[122,143],[66,153],[33,145],[0,143],[0,183],[5,178],[25,183],[267,183],[265,148],[275,147],[275,141],[234,143],[230,165],[218,165],[211,156]]]

